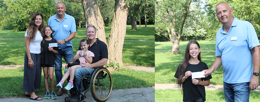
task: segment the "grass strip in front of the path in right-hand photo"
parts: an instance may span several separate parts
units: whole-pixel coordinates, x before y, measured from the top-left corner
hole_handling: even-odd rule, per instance
[[[250,92],[249,102],[258,102],[260,93]],[[181,102],[183,95],[178,89],[155,90],[155,102]],[[206,90],[206,102],[225,102],[224,91],[222,90]]]

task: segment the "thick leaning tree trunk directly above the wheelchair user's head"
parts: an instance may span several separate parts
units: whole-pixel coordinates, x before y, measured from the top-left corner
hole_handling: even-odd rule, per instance
[[[97,29],[96,38],[99,38],[99,40],[107,44],[104,29],[105,23],[101,16],[97,0],[82,0],[82,6],[84,11],[86,27],[88,26],[88,24],[94,25]]]

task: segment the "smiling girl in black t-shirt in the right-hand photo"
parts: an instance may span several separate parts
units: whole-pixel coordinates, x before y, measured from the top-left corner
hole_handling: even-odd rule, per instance
[[[190,41],[187,44],[184,58],[178,66],[174,75],[177,78],[179,88],[183,93],[184,102],[204,102],[206,101],[205,87],[210,85],[212,77],[192,79],[192,72],[201,72],[209,69],[206,63],[201,62],[200,47],[197,41]],[[204,80],[204,81],[203,81]]]

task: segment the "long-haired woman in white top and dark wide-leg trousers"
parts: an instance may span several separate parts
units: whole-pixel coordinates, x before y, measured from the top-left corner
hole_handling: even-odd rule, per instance
[[[41,41],[43,39],[43,16],[36,12],[28,23],[24,35],[26,53],[24,56],[23,91],[31,100],[42,100],[34,90],[41,87]]]

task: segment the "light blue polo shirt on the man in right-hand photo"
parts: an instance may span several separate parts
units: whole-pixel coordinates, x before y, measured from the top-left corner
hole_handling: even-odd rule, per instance
[[[216,56],[221,56],[224,82],[250,82],[253,71],[251,49],[259,45],[256,31],[250,22],[234,17],[228,33],[222,25],[216,35]]]

